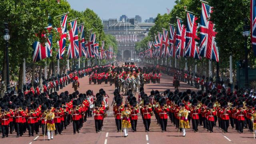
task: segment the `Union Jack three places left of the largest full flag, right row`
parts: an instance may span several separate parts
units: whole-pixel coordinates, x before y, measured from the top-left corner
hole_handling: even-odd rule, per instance
[[[170,45],[170,56],[175,58],[175,41],[176,41],[176,32],[175,27],[172,25],[170,26],[170,34],[169,34],[169,45]]]

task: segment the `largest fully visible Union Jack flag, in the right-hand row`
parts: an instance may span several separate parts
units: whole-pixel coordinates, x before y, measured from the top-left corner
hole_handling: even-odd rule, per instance
[[[202,3],[202,14],[200,22],[200,56],[219,62],[218,47],[215,42],[217,32],[214,30],[214,24],[211,22],[210,14],[212,7]]]

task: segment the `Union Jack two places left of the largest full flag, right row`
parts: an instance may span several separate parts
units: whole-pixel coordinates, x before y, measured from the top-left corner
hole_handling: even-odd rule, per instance
[[[183,21],[177,19],[177,31],[176,31],[176,57],[180,58],[184,56],[184,48],[186,44],[186,27]]]

